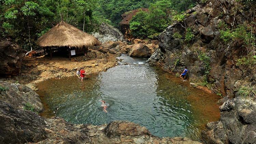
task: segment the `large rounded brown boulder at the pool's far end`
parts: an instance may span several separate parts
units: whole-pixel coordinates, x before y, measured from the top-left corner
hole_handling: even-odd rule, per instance
[[[130,45],[129,48],[130,48],[130,51],[128,55],[132,57],[147,58],[147,57],[150,57],[151,55],[150,49],[146,45],[141,43]]]

